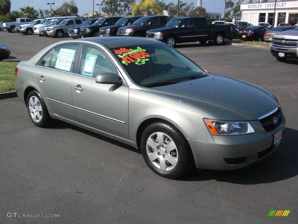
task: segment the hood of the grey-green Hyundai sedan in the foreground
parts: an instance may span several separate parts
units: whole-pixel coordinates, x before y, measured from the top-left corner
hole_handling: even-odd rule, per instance
[[[220,120],[257,120],[278,106],[267,90],[216,74],[173,85],[141,88],[201,108]]]

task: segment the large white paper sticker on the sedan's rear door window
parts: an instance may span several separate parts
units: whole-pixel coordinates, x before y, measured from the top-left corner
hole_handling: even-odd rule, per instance
[[[72,66],[72,60],[75,56],[76,50],[61,48],[57,58],[55,68],[70,71]]]

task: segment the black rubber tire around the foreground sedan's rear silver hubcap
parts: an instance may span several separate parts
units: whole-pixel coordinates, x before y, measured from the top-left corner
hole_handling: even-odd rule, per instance
[[[40,113],[40,111],[35,110],[35,112],[37,112],[37,113],[39,113],[39,115],[41,115],[41,119],[38,121],[37,121],[38,116],[35,116],[35,117],[37,117],[37,119],[34,119],[34,111],[30,112],[30,110],[35,109],[35,107],[33,107],[33,105],[35,105],[35,102],[33,101],[33,103],[34,103],[33,105],[30,103],[31,97],[32,97],[32,100],[34,99],[34,101],[35,101],[35,98],[37,98],[37,100],[38,100],[37,106],[38,107],[41,106],[41,113]],[[40,128],[44,128],[44,127],[48,126],[52,119],[49,115],[48,110],[46,109],[44,99],[42,99],[41,95],[36,90],[32,90],[28,94],[26,103],[27,103],[27,111],[28,111],[29,117],[30,117],[31,121],[33,122],[33,124],[35,124],[36,126],[38,126]],[[31,107],[31,105],[32,105],[32,107]]]

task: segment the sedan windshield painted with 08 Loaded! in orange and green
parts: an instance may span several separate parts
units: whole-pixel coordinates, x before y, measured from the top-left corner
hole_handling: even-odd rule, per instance
[[[190,59],[164,44],[121,46],[111,51],[141,86],[169,85],[207,75]]]

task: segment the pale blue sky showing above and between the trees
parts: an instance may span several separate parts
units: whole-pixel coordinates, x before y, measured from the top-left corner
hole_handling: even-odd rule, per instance
[[[11,10],[19,10],[20,7],[26,6],[33,6],[34,9],[48,9],[50,10],[50,5],[47,5],[46,3],[48,2],[55,2],[55,5],[52,5],[53,8],[59,7],[63,1],[69,1],[69,0],[10,0],[11,5]],[[138,0],[136,0],[138,1]],[[162,1],[162,0],[160,0]],[[198,1],[192,1],[192,0],[182,0],[184,2],[187,2],[188,4],[194,3],[194,6],[197,6]],[[236,3],[238,0],[233,0],[234,3]],[[256,1],[256,0],[254,0]],[[269,0],[270,1],[270,0]],[[99,4],[101,0],[94,0],[94,11],[98,11],[98,6],[96,4]],[[178,0],[176,1],[171,1],[171,0],[164,0],[165,3],[173,2],[177,3]],[[248,0],[244,1],[248,2]],[[75,0],[75,3],[77,4],[77,7],[79,9],[79,15],[83,15],[84,13],[91,13],[93,10],[93,0]],[[202,6],[206,8],[207,12],[212,12],[212,13],[221,13],[221,15],[224,15],[224,0],[202,0]],[[102,12],[101,12],[102,13]]]

